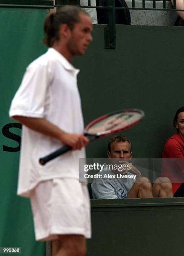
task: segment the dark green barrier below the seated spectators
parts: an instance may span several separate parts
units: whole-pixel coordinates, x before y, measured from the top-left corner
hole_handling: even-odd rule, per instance
[[[183,251],[183,198],[92,200],[87,256],[174,256]]]

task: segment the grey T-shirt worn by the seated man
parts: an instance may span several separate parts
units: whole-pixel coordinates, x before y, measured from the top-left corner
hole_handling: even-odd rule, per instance
[[[94,199],[126,198],[136,180],[136,178],[117,178],[117,175],[110,170],[102,170],[98,174],[102,175],[102,178],[94,179],[91,184]],[[115,177],[107,178],[109,175],[115,175]],[[126,172],[125,175],[133,174]]]

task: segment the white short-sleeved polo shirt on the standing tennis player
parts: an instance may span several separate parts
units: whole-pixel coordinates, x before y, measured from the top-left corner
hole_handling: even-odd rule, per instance
[[[78,69],[53,48],[26,69],[11,106],[14,115],[45,118],[67,133],[83,133],[81,101],[77,88]],[[39,158],[55,151],[59,140],[23,125],[18,179],[18,195],[29,197],[38,182],[54,178],[79,179],[79,158],[85,150],[69,151],[45,166]]]

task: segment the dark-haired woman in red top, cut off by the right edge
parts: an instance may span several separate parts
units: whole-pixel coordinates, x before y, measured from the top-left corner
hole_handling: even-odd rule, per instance
[[[177,133],[167,139],[164,145],[164,151],[162,152],[162,157],[181,159],[184,158],[184,107],[181,107],[176,111],[173,125],[174,129],[177,130]],[[163,175],[171,179],[174,197],[184,197],[184,161],[178,160],[175,162],[175,169],[172,171],[172,174],[171,172],[169,173],[167,168],[164,168]],[[173,183],[174,180],[175,182],[178,180],[180,183]]]

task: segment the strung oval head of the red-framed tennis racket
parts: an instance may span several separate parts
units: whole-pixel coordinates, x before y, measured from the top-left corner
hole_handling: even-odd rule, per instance
[[[143,117],[144,112],[140,109],[115,111],[93,120],[86,126],[84,134],[97,138],[110,136],[137,125]]]

